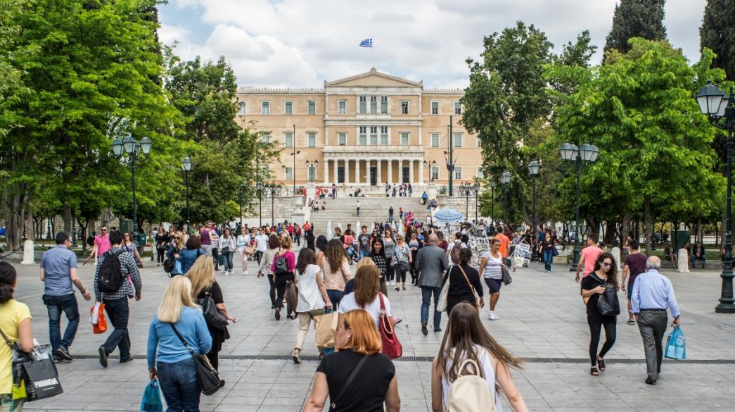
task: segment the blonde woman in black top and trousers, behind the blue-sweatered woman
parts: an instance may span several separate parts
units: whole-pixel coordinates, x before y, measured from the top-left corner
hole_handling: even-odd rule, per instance
[[[194,263],[194,266],[186,274],[186,277],[191,282],[191,296],[198,305],[202,306],[205,303],[205,299],[212,296],[212,300],[215,302],[215,306],[222,316],[232,323],[237,322],[237,319],[234,319],[227,313],[222,288],[220,288],[219,283],[215,280],[215,268],[212,260],[212,256],[209,255],[199,257],[196,263]],[[209,349],[209,352],[207,352],[207,358],[209,358],[209,363],[212,363],[215,369],[219,369],[219,354],[222,350],[222,344],[229,339],[229,332],[226,326],[211,324],[209,322],[207,322],[207,330],[209,330],[209,335],[212,336],[212,349]]]

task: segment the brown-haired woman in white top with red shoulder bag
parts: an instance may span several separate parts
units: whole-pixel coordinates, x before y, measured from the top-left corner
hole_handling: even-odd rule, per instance
[[[346,294],[342,298],[337,312],[340,313],[341,319],[350,310],[366,310],[370,313],[370,316],[373,316],[377,330],[380,322],[381,300],[388,319],[395,325],[395,320],[390,311],[390,301],[387,296],[380,293],[380,269],[374,263],[363,264],[355,273],[354,291],[351,294]]]

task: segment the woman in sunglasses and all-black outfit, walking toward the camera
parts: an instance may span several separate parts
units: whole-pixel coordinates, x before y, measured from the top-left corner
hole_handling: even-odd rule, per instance
[[[589,325],[589,374],[599,376],[605,372],[605,355],[615,344],[617,335],[617,316],[601,315],[598,311],[600,295],[605,293],[606,285],[617,285],[617,264],[614,257],[603,252],[595,260],[595,271],[582,279],[582,299],[587,305],[587,324]],[[605,327],[605,343],[598,354],[600,345],[600,330]],[[598,368],[599,366],[599,368]],[[598,370],[599,369],[599,370]]]

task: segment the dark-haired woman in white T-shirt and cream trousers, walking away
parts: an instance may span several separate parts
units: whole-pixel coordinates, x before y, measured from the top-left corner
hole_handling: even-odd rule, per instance
[[[312,249],[304,248],[298,252],[296,273],[298,273],[298,333],[296,344],[293,347],[293,363],[301,363],[301,348],[304,347],[309,325],[314,322],[314,328],[319,324],[319,316],[324,309],[331,309],[329,295],[322,280],[321,268],[316,264],[317,257]]]

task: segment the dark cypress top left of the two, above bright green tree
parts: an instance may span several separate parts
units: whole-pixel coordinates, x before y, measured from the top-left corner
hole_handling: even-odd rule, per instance
[[[666,40],[664,27],[665,0],[620,0],[615,6],[612,29],[607,35],[605,53],[631,49],[628,39]]]

